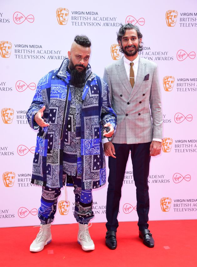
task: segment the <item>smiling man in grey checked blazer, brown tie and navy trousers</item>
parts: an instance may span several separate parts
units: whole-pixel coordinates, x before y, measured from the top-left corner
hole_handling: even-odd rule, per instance
[[[109,156],[105,242],[110,249],[116,249],[121,187],[131,151],[139,237],[146,246],[153,248],[154,239],[148,229],[149,162],[151,156],[160,154],[162,141],[162,109],[157,65],[139,57],[142,34],[137,26],[131,23],[121,26],[117,40],[124,56],[107,66],[104,71],[104,81],[109,85],[112,107],[117,115],[117,130],[113,143],[104,143],[105,155]]]

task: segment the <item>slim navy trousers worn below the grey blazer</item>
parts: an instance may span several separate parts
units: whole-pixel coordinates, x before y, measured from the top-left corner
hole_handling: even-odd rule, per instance
[[[149,163],[150,144],[114,144],[116,158],[109,157],[109,178],[106,205],[106,228],[108,231],[117,231],[119,226],[117,216],[121,198],[121,188],[124,180],[124,173],[131,151],[133,165],[133,177],[136,186],[137,213],[139,217],[139,230],[148,229],[149,213]]]

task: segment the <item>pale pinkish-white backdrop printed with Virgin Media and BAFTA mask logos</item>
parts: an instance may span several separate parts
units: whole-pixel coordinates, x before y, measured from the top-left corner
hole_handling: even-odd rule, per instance
[[[58,8],[68,9],[61,11],[68,16],[59,22]],[[116,32],[128,21],[143,34],[140,56],[159,65],[162,92],[165,139],[162,154],[150,163],[149,219],[197,218],[196,0],[141,0],[138,5],[117,0],[10,0],[0,8],[0,227],[39,224],[41,187],[30,183],[37,133],[26,119],[38,80],[60,66],[76,34],[91,39],[89,63],[102,77],[104,66],[116,60],[111,54]],[[93,222],[106,221],[106,194],[107,185],[93,190]],[[67,215],[57,209],[55,224],[76,222],[73,188],[68,188],[68,200]],[[138,220],[130,159],[118,219]]]

